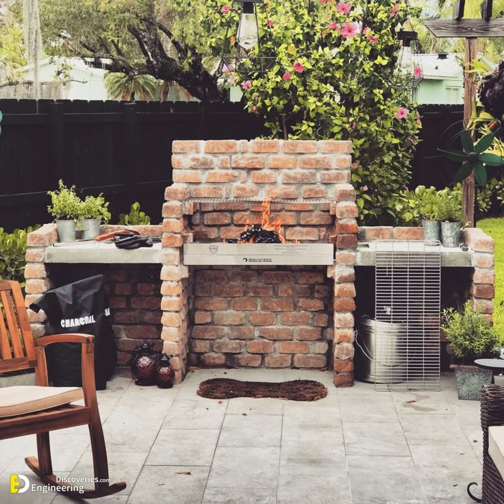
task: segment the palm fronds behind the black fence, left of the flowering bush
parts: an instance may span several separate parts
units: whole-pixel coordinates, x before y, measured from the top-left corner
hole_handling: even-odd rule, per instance
[[[105,74],[105,89],[113,100],[158,100],[160,81],[151,75],[127,75],[108,72]]]

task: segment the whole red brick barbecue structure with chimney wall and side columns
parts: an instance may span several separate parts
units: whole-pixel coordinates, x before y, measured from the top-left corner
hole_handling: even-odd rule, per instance
[[[162,229],[140,229],[162,233],[159,269],[149,270],[151,278],[160,271],[160,280],[149,288],[144,276],[104,265],[118,349],[131,350],[144,335],[158,348],[162,341],[174,355],[177,382],[189,366],[265,366],[331,368],[336,386],[351,386],[358,241],[422,239],[422,229],[357,227],[351,142],[177,140],[172,165]],[[262,200],[270,201],[269,218],[281,219],[288,242],[333,244],[333,264],[184,264],[184,244],[236,240],[261,223]],[[474,264],[470,296],[491,318],[493,240],[479,229],[464,233]],[[29,234],[27,304],[64,276],[58,264],[45,264],[56,239],[54,225]],[[29,316],[34,333],[43,334],[43,312]]]

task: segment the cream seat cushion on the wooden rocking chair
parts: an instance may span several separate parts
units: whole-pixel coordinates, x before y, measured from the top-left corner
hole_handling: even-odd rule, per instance
[[[79,387],[14,386],[0,388],[0,418],[40,412],[82,399]]]

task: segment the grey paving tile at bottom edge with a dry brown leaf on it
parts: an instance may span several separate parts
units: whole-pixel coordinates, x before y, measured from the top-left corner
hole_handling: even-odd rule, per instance
[[[209,470],[209,467],[144,466],[127,503],[201,503]],[[190,472],[190,475],[177,475],[177,472]]]

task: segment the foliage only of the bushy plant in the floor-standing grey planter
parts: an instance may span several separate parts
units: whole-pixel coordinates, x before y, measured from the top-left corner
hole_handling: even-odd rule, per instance
[[[443,315],[445,323],[441,328],[461,364],[472,364],[475,359],[492,357],[496,353],[497,331],[483,314],[473,310],[470,301],[466,301],[462,312],[449,308]]]

